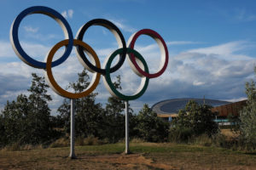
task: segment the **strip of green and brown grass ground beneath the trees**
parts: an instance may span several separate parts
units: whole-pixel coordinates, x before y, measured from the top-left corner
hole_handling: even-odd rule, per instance
[[[256,169],[256,153],[189,144],[131,143],[0,151],[0,169]]]

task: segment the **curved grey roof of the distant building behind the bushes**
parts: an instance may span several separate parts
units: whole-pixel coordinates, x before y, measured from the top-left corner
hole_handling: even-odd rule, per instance
[[[217,107],[220,105],[230,104],[228,101],[221,101],[216,99],[193,99],[193,98],[185,98],[185,99],[167,99],[160,101],[152,106],[152,110],[160,115],[177,115],[180,109],[183,109],[185,105],[189,102],[189,100],[195,100],[198,104],[207,104],[212,105],[212,107]]]

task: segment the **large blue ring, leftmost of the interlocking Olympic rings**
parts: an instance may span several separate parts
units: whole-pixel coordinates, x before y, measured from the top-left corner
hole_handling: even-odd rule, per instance
[[[17,18],[13,22],[13,25],[10,31],[10,40],[11,42],[13,42],[13,48],[15,48],[16,53],[18,53],[18,56],[20,56],[22,60],[26,62],[27,65],[31,65],[32,67],[36,67],[39,69],[46,68],[46,63],[38,61],[36,59],[32,59],[28,54],[26,54],[26,52],[20,46],[18,29],[19,29],[21,20],[23,20],[28,14],[46,14],[49,17],[53,18],[54,20],[57,20],[59,22],[61,21],[61,23],[59,24],[63,24],[62,29],[63,31],[67,31],[67,35],[68,35],[68,45],[66,46],[66,50],[64,54],[61,56],[61,58],[55,60],[52,63],[53,67],[56,65],[61,65],[61,63],[63,63],[68,58],[69,54],[71,54],[72,52],[73,32],[71,30],[71,27],[67,23],[67,20],[60,13],[58,13],[52,8],[48,8],[44,6],[34,6],[34,7],[26,8],[17,16]],[[64,27],[66,30],[64,30]]]

